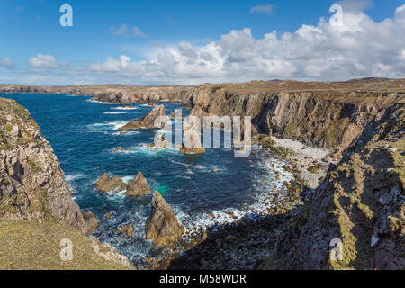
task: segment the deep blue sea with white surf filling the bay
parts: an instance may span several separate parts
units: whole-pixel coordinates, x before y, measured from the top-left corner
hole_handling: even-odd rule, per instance
[[[90,97],[69,94],[0,96],[22,104],[40,125],[65,171],[74,199],[82,210],[90,209],[100,221],[93,237],[111,243],[136,264],[153,247],[145,240],[144,231],[151,193],[139,197],[100,193],[95,182],[104,172],[128,182],[140,170],[152,189],[172,205],[186,229],[230,221],[227,211],[242,216],[266,210],[272,188],[281,187],[284,180],[293,177],[284,172],[280,181],[275,180],[275,169],[280,170],[284,163],[261,150],[247,158],[235,158],[233,151],[225,148],[207,148],[204,155],[184,156],[176,148],[143,147],[153,142],[156,130],[120,135],[117,128],[147,114],[152,110],[148,105],[135,104],[134,110],[122,110],[119,104],[94,103]],[[180,108],[163,104],[167,115]],[[118,146],[126,151],[115,152]],[[212,172],[214,168],[219,172]],[[103,216],[107,212],[112,212],[110,219]],[[209,216],[211,213],[214,217]],[[127,223],[135,229],[134,238],[115,232]]]

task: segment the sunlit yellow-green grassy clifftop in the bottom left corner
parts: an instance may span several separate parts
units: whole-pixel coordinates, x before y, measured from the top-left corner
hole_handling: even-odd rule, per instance
[[[73,243],[72,261],[60,259],[60,240],[64,238]],[[114,248],[84,237],[65,224],[0,220],[0,243],[2,270],[129,269],[121,264]]]

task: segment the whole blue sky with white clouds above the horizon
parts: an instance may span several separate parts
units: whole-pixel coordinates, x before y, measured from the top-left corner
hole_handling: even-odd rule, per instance
[[[0,39],[6,84],[405,78],[405,0],[0,0]]]

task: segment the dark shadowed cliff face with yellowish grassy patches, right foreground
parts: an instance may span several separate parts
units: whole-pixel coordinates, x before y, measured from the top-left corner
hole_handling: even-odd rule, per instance
[[[405,101],[377,112],[259,268],[404,269]],[[342,240],[343,260],[329,258]]]

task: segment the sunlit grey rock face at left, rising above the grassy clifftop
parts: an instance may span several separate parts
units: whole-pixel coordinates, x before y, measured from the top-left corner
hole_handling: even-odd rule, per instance
[[[29,112],[0,98],[0,219],[54,221],[85,233],[63,175]]]

